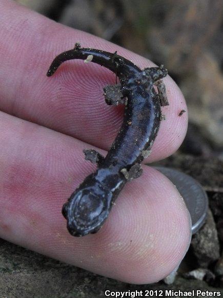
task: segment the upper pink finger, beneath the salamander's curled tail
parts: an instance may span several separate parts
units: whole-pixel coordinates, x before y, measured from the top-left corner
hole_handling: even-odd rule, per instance
[[[50,63],[79,41],[85,47],[117,50],[141,68],[153,64],[14,2],[2,2],[0,9],[0,109],[108,150],[123,121],[123,107],[107,106],[103,98],[103,87],[115,83],[114,74],[93,63],[69,61],[47,78]],[[150,161],[172,154],[187,130],[187,113],[178,117],[181,109],[187,110],[184,98],[170,77],[164,81],[170,106],[163,108],[166,120],[161,121]]]

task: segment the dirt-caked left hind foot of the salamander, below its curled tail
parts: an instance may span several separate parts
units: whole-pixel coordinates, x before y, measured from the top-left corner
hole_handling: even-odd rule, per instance
[[[124,104],[125,98],[121,91],[121,84],[108,85],[104,90],[105,102],[108,105]]]

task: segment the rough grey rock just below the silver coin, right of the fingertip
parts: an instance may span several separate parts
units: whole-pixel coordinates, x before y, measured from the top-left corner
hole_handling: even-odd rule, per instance
[[[205,225],[192,237],[191,247],[200,267],[207,268],[220,257],[217,230],[210,210]]]

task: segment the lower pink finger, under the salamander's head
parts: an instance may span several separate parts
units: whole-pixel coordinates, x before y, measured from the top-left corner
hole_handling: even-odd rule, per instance
[[[128,183],[102,230],[71,236],[61,214],[93,166],[87,144],[0,113],[0,237],[39,253],[128,283],[169,274],[190,242],[190,216],[173,184],[144,166]]]

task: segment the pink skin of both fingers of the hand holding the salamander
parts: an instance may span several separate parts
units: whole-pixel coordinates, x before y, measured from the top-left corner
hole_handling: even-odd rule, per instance
[[[55,55],[75,42],[117,50],[142,68],[154,64],[13,1],[2,1],[0,11],[0,237],[128,283],[165,277],[188,250],[191,220],[172,183],[146,165],[102,230],[83,238],[68,233],[63,203],[95,169],[82,150],[95,146],[106,154],[123,107],[105,104],[103,87],[115,76],[98,65],[66,62],[46,77]],[[163,108],[166,120],[149,161],[176,151],[187,131],[187,113],[178,117],[185,100],[170,77],[164,81],[170,106]]]

